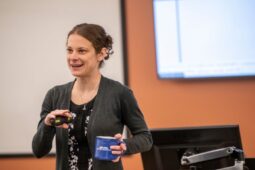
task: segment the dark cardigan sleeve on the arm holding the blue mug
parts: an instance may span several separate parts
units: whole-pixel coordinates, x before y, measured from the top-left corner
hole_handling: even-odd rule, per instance
[[[121,100],[123,122],[132,134],[131,138],[124,139],[127,145],[125,154],[148,151],[152,147],[152,136],[133,92],[130,89],[125,90]]]

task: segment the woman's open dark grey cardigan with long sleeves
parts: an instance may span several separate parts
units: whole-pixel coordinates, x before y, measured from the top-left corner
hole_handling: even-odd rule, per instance
[[[32,149],[36,157],[48,154],[56,134],[56,169],[68,170],[68,131],[44,124],[44,118],[55,109],[69,109],[74,82],[50,89],[42,104],[41,119],[33,137]],[[94,159],[96,136],[114,136],[122,133],[126,125],[132,138],[125,139],[127,151],[133,154],[147,151],[152,146],[152,137],[132,91],[117,81],[101,77],[97,97],[88,124],[88,143],[93,156],[93,170],[121,170],[121,161],[100,161]]]

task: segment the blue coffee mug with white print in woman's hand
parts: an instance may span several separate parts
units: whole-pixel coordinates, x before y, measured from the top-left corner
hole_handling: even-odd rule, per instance
[[[95,145],[95,158],[112,161],[120,155],[112,154],[111,146],[120,145],[122,141],[111,136],[97,136]]]

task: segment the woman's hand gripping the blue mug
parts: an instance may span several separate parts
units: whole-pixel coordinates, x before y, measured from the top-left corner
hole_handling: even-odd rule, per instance
[[[122,135],[120,133],[117,133],[114,137],[120,141],[123,141]],[[112,162],[118,162],[121,155],[127,150],[127,146],[125,143],[121,143],[120,145],[111,146],[111,150],[112,154],[119,155],[116,159],[112,160]]]

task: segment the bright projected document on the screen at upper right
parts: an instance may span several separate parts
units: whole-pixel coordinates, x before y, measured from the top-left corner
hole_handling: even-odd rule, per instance
[[[154,0],[161,78],[255,75],[255,1]]]

